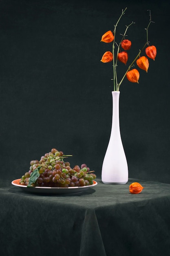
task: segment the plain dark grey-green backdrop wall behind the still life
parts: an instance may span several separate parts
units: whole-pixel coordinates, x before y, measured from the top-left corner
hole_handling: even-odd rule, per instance
[[[168,1],[0,0],[0,163],[2,180],[19,178],[32,159],[55,147],[72,165],[101,176],[111,129],[111,44],[101,36],[119,23],[132,60],[146,42],[157,47],[139,84],[120,87],[120,127],[129,176],[170,183]],[[119,70],[125,70],[119,63]],[[128,64],[127,64],[128,65]]]

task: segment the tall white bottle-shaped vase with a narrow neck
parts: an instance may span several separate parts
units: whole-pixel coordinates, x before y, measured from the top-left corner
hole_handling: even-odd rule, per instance
[[[112,128],[102,166],[102,182],[105,184],[126,184],[128,182],[128,164],[119,126],[119,95],[120,92],[112,92]]]

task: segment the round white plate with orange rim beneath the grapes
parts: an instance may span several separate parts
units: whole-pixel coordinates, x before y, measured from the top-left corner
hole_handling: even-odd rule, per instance
[[[17,180],[13,180],[11,183],[14,186],[18,186],[21,189],[23,189],[26,192],[31,192],[31,193],[46,193],[46,194],[75,194],[75,193],[81,193],[86,189],[89,189],[93,186],[97,185],[97,182],[95,180],[93,180],[93,184],[92,185],[88,185],[88,186],[68,186],[66,188],[58,188],[58,187],[41,187],[41,186],[31,186],[31,187],[27,187],[24,185],[20,185],[19,184],[20,179]]]

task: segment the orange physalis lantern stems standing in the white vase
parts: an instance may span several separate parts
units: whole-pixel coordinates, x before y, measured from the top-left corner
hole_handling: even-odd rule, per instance
[[[121,16],[124,14],[125,10],[124,11],[122,10]],[[120,16],[120,18],[121,18],[121,16]],[[119,22],[119,20],[118,20],[118,22]],[[117,24],[118,24],[118,22],[117,22]],[[150,15],[149,25],[151,22],[152,21],[151,21],[151,15]],[[133,23],[134,22],[132,22],[130,25],[132,25]],[[117,24],[116,24],[116,26],[117,26]],[[130,25],[126,26],[127,27],[126,31],[127,31],[128,27],[130,27]],[[149,25],[148,25],[148,27],[149,27]],[[146,29],[147,31],[148,31],[148,27]],[[113,61],[114,83],[115,83],[115,81],[117,83],[117,73],[116,73],[117,61],[120,61],[126,65],[126,63],[128,62],[128,52],[127,51],[130,50],[131,45],[132,45],[132,42],[130,40],[125,39],[126,31],[125,31],[124,35],[122,35],[123,37],[122,37],[119,45],[116,43],[116,45],[118,47],[117,54],[115,54],[115,52],[114,52],[114,50],[115,50],[115,30],[113,32],[110,30],[107,31],[105,34],[103,34],[102,39],[101,39],[101,42],[104,42],[104,43],[113,42],[112,52],[110,52],[110,51],[105,52],[102,56],[101,61],[103,63],[108,63],[108,62]],[[157,48],[154,45],[151,45],[151,46],[148,46],[148,45],[149,45],[149,42],[148,42],[148,34],[147,34],[146,44],[144,45],[144,47],[142,48],[141,51],[139,50],[139,54],[136,56],[135,60],[131,63],[131,65],[128,67],[128,70],[126,71],[126,73],[124,75],[124,77],[126,76],[126,78],[132,83],[139,83],[138,82],[139,81],[139,71],[136,68],[132,69],[132,67],[134,66],[134,63],[136,63],[137,67],[139,67],[141,70],[145,70],[146,72],[148,72],[148,68],[149,68],[148,58],[151,58],[152,60],[155,61],[155,57],[157,55]],[[148,47],[146,47],[146,46],[148,46]],[[120,48],[122,48],[123,51],[121,51]],[[144,49],[145,49],[146,56],[140,56],[141,52]],[[116,90],[119,90],[119,86],[120,86],[121,82],[123,81],[124,77],[121,79],[120,83],[119,84],[117,83],[116,86],[114,87]]]

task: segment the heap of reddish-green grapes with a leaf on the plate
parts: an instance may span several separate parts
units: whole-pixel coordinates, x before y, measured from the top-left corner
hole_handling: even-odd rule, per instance
[[[94,171],[82,164],[80,167],[75,165],[71,168],[69,162],[64,159],[71,155],[64,155],[62,151],[52,148],[38,160],[30,162],[30,169],[20,180],[21,185],[25,186],[88,186],[93,184],[96,175]]]

